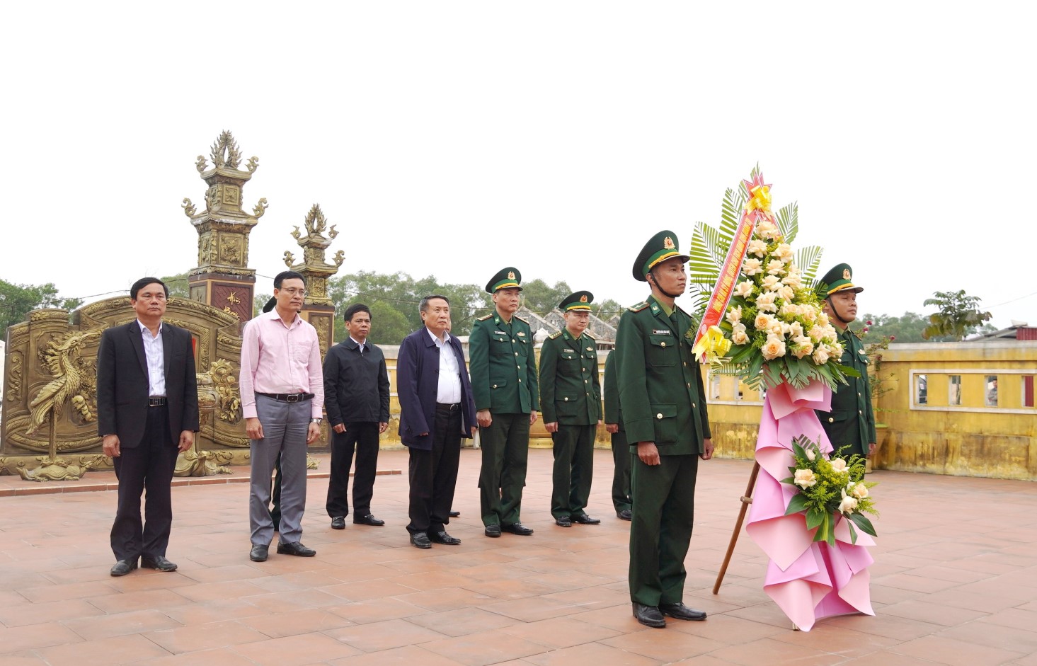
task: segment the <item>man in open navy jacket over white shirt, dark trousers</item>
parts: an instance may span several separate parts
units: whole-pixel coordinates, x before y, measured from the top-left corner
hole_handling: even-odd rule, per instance
[[[399,438],[410,449],[411,544],[457,546],[450,523],[460,461],[460,438],[475,435],[475,400],[465,353],[450,335],[450,302],[426,296],[419,306],[423,327],[403,338],[396,360]]]

